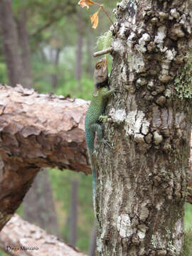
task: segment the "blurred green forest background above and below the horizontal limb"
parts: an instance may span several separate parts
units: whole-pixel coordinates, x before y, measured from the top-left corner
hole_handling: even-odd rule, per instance
[[[92,29],[89,16],[97,11],[97,6],[83,10],[74,0],[10,2],[18,38],[16,54],[22,58],[23,49],[28,48],[28,55],[23,55],[23,60],[26,60],[24,73],[28,74],[28,80],[23,86],[32,85],[40,93],[53,92],[55,95],[90,100],[96,62],[92,54],[102,50],[103,43],[98,36],[111,26],[105,14],[100,12],[99,26]],[[115,21],[112,10],[117,1],[105,0],[102,4]],[[0,83],[11,85],[3,48],[5,24],[1,20]],[[110,56],[108,61],[111,65]],[[13,68],[18,67],[13,64]],[[95,224],[90,175],[68,170],[41,171],[17,213],[91,255]],[[192,206],[188,203],[185,225],[186,228],[192,227]],[[0,251],[0,255],[6,254]]]

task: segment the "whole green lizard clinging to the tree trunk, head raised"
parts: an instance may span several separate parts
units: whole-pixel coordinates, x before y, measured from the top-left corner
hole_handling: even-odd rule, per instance
[[[97,132],[97,142],[106,142],[105,139],[102,137],[100,116],[105,112],[107,98],[110,97],[110,95],[112,95],[114,92],[114,90],[109,90],[107,58],[102,58],[102,60],[97,61],[94,71],[94,84],[95,91],[93,92],[90,107],[88,108],[85,116],[85,137],[92,169],[92,198],[93,208],[95,212],[97,177],[97,175],[95,174],[95,166],[93,164],[95,132]]]

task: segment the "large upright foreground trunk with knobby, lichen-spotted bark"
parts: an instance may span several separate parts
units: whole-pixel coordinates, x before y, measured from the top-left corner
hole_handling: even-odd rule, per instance
[[[192,114],[189,3],[117,4],[110,85],[119,93],[104,127],[112,146],[95,154],[99,255],[182,253]]]

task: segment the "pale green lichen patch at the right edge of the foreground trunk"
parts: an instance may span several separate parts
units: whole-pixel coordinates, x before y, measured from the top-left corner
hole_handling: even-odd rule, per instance
[[[188,53],[188,62],[184,65],[181,75],[175,79],[176,92],[180,98],[192,99],[192,64],[191,53]]]

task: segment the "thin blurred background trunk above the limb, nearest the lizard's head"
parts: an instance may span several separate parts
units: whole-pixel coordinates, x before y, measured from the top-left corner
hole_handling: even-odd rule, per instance
[[[81,75],[82,75],[82,17],[78,14],[77,21],[78,29],[78,42],[77,42],[77,61],[76,61],[76,72],[75,76],[78,80],[78,90],[81,90]]]

